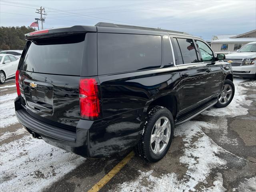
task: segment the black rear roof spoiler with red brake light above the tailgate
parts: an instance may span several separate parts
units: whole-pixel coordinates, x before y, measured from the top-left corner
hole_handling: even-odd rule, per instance
[[[25,39],[32,40],[32,39],[46,38],[51,36],[62,36],[62,35],[86,33],[86,32],[97,32],[96,26],[76,25],[76,26],[66,27],[66,28],[54,28],[54,29],[34,31],[34,32],[25,34]]]

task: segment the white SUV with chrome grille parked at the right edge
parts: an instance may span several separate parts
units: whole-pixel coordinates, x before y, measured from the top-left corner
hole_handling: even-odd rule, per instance
[[[235,76],[256,78],[256,42],[250,42],[226,55],[225,61],[230,62]]]

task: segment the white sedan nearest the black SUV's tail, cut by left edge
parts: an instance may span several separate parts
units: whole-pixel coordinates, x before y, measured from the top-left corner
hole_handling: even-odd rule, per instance
[[[20,58],[10,54],[0,54],[0,83],[15,76]]]

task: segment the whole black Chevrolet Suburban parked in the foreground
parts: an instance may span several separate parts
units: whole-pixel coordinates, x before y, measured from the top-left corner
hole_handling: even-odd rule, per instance
[[[18,120],[34,138],[86,158],[134,147],[156,162],[175,125],[234,96],[225,55],[184,32],[100,22],[25,38]]]

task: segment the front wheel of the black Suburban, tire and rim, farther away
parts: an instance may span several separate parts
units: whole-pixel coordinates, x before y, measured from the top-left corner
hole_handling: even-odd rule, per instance
[[[226,79],[224,81],[222,91],[218,96],[218,101],[214,106],[217,108],[223,108],[228,106],[232,101],[232,99],[234,98],[234,94],[235,94],[234,83],[231,80]]]

